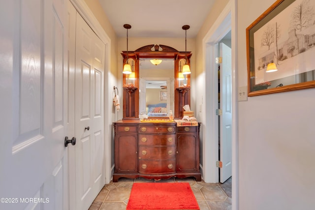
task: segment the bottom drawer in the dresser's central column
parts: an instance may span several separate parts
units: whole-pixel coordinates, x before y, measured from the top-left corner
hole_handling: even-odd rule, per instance
[[[172,160],[139,160],[139,173],[142,174],[165,174],[174,173],[176,168],[175,159]]]

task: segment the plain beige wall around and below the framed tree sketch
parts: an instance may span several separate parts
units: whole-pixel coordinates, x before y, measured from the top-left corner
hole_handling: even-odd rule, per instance
[[[246,28],[275,0],[237,2],[237,71],[242,87],[247,86]],[[254,96],[238,103],[240,210],[314,209],[314,104],[315,89]]]

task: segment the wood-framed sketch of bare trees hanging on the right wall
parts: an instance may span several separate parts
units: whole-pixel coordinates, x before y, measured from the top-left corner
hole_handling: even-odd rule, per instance
[[[246,44],[248,96],[315,87],[314,0],[277,0],[246,29]]]

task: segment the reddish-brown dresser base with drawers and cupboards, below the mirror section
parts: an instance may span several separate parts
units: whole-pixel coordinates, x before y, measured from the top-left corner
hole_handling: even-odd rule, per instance
[[[199,129],[171,123],[140,120],[114,122],[115,172],[119,178],[169,179],[194,177],[199,171]]]

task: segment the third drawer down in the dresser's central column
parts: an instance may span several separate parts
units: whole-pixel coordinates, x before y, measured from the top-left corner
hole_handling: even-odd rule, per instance
[[[139,159],[172,159],[175,158],[176,147],[168,146],[168,147],[139,147]]]

